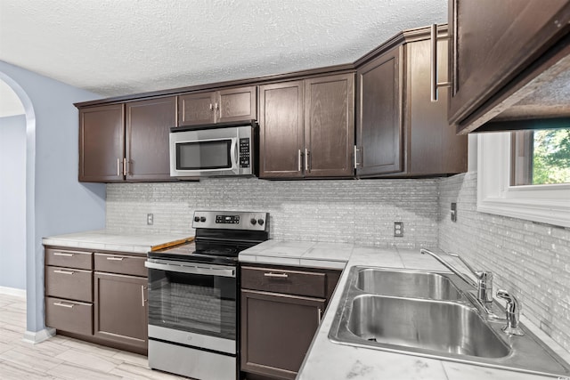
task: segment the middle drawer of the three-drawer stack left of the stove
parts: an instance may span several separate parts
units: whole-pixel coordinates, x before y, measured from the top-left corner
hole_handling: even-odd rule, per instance
[[[93,301],[92,271],[45,267],[45,295],[76,301]]]

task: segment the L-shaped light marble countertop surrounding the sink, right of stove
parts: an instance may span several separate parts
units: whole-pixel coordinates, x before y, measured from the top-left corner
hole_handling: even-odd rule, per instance
[[[446,260],[461,268],[463,265],[446,256]],[[443,380],[539,380],[552,379],[549,376],[536,376],[497,368],[479,367],[447,360],[436,360],[396,352],[334,344],[329,338],[329,330],[341,301],[343,289],[348,280],[349,269],[355,265],[405,268],[433,271],[448,271],[433,257],[420,255],[419,250],[396,248],[355,247],[315,242],[292,242],[269,240],[249,248],[240,254],[240,262],[266,263],[294,266],[314,266],[322,268],[345,268],[338,281],[321,325],[313,343],[305,356],[297,380],[321,379],[443,379]],[[464,268],[464,267],[463,267]],[[464,268],[465,269],[465,268]],[[463,271],[468,273],[467,269]],[[524,316],[525,327],[542,339],[555,352],[570,362],[570,353],[556,344],[542,330],[535,327]],[[556,378],[556,377],[554,377]],[[566,379],[560,377],[560,379]]]

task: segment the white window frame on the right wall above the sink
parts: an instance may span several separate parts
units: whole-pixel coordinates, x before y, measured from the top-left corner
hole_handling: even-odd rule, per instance
[[[570,227],[570,184],[510,185],[510,141],[477,135],[477,211]]]

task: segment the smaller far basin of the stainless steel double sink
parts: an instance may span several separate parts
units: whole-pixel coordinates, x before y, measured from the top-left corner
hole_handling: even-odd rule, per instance
[[[358,271],[356,287],[373,295],[395,295],[433,300],[459,300],[460,291],[452,281],[434,272],[389,271],[367,268]]]

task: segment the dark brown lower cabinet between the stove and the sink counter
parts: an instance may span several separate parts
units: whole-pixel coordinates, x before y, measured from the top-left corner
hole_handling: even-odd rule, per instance
[[[241,267],[241,378],[294,379],[340,271]]]

